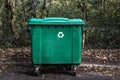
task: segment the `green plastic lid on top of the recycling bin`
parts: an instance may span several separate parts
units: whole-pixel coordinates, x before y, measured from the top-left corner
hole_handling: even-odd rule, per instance
[[[31,18],[28,20],[28,25],[84,25],[85,21],[82,19],[68,19],[68,18]]]

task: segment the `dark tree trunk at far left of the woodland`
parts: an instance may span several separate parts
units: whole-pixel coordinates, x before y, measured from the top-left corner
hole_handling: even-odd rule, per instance
[[[4,17],[4,26],[3,26],[3,33],[5,35],[13,34],[12,28],[12,19],[13,19],[13,1],[12,0],[5,0],[5,17]]]

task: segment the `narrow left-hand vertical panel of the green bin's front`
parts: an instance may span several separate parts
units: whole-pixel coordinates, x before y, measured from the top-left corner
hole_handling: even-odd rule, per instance
[[[32,61],[34,64],[41,64],[41,34],[40,27],[32,27]]]

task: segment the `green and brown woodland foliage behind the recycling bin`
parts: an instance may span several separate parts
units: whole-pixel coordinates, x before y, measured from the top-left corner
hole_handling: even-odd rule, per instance
[[[26,30],[27,20],[32,17],[82,18],[86,21],[86,47],[120,47],[119,0],[13,0],[13,34],[10,38],[3,35],[7,34],[3,33],[3,24],[10,21],[6,18],[5,0],[0,0],[0,3],[0,45],[3,47],[30,45]]]

